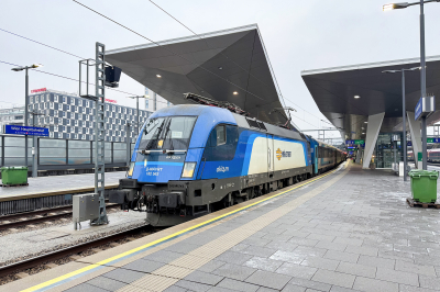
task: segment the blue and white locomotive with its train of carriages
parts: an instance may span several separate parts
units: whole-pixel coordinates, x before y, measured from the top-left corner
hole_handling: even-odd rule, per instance
[[[230,109],[183,104],[144,123],[127,178],[110,192],[123,210],[172,226],[334,168],[346,153],[293,126]]]

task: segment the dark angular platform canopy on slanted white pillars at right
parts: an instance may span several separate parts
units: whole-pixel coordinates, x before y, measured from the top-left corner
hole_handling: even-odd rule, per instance
[[[304,70],[301,77],[319,110],[340,130],[342,138],[364,138],[369,115],[385,112],[381,132],[402,131],[402,72],[383,74],[420,66],[420,58],[389,60]],[[420,71],[406,71],[406,110],[415,111],[420,99]],[[427,58],[427,94],[437,97],[440,109],[440,56]],[[355,97],[359,97],[358,99]],[[440,112],[428,124],[440,120]]]

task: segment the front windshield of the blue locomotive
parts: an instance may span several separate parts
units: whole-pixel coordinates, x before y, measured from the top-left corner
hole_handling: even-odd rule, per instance
[[[187,149],[197,116],[166,116],[146,122],[140,149]]]

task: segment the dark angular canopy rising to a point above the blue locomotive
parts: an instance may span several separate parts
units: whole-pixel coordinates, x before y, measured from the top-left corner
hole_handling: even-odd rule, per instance
[[[111,49],[106,60],[174,104],[191,92],[229,101],[261,121],[284,124],[274,72],[256,24]]]

